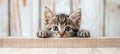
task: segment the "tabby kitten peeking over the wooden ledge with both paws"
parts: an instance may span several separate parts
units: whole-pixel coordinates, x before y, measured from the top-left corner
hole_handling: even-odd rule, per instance
[[[47,37],[90,37],[87,30],[80,30],[81,10],[74,11],[70,16],[66,14],[55,15],[45,7],[45,29],[37,33],[39,38]]]

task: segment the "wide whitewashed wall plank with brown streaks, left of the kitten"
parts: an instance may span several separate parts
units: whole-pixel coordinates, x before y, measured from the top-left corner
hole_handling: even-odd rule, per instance
[[[11,0],[11,36],[31,37],[38,31],[39,0]]]

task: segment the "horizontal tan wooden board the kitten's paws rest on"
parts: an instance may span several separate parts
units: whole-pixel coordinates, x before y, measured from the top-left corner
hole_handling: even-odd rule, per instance
[[[0,38],[3,48],[120,47],[120,38]]]

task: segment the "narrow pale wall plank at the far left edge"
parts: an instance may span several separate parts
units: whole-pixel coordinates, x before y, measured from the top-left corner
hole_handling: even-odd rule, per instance
[[[8,0],[0,0],[0,37],[8,36]]]

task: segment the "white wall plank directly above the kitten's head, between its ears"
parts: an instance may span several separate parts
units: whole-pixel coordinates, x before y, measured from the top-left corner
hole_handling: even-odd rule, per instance
[[[56,14],[68,14],[72,12],[71,8],[71,0],[55,0],[55,13]]]

